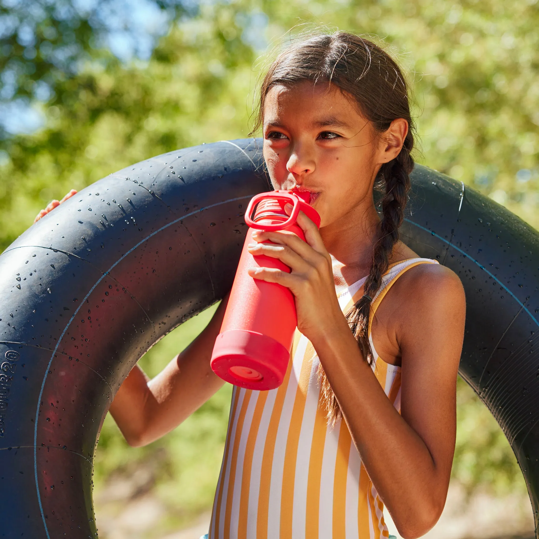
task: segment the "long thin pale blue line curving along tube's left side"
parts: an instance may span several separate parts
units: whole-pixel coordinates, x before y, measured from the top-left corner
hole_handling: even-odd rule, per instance
[[[236,144],[234,144],[234,146],[236,146]],[[252,160],[251,160],[251,162],[252,162]],[[51,539],[51,536],[49,535],[49,529],[47,528],[47,523],[45,522],[45,514],[43,513],[43,505],[41,503],[41,496],[39,494],[39,483],[38,483],[38,479],[37,479],[37,423],[38,423],[38,419],[39,419],[39,406],[40,406],[40,403],[41,403],[41,398],[43,396],[43,390],[45,388],[45,381],[47,379],[47,374],[49,374],[49,369],[51,368],[52,360],[54,359],[54,355],[56,354],[56,352],[58,350],[58,347],[60,345],[61,340],[64,338],[64,335],[65,335],[65,333],[67,331],[67,328],[70,326],[71,322],[73,322],[75,316],[77,316],[77,313],[79,312],[79,309],[82,307],[82,305],[84,305],[84,302],[88,299],[89,295],[94,291],[95,287],[99,285],[99,283],[103,280],[103,278],[105,278],[109,274],[110,270],[113,269],[116,265],[120,264],[120,262],[124,258],[126,258],[129,253],[132,253],[137,247],[142,245],[146,240],[148,240],[151,237],[155,236],[155,234],[158,234],[159,232],[163,231],[164,229],[167,229],[169,226],[172,226],[172,225],[178,223],[179,221],[185,219],[186,217],[190,217],[192,215],[195,215],[195,213],[200,213],[200,212],[202,212],[204,210],[209,210],[210,208],[215,208],[215,206],[220,206],[222,204],[228,204],[229,202],[236,202],[236,201],[243,200],[245,198],[252,198],[253,196],[254,195],[245,195],[243,197],[229,198],[228,200],[223,201],[223,202],[216,202],[215,204],[210,204],[209,206],[204,206],[204,208],[201,208],[199,210],[192,211],[190,213],[186,213],[186,215],[184,215],[182,217],[179,217],[178,219],[175,219],[175,220],[171,221],[170,223],[167,223],[166,225],[163,225],[160,229],[157,229],[156,231],[149,234],[146,238],[142,239],[141,241],[139,241],[139,243],[137,243],[135,246],[130,248],[129,251],[122,254],[121,257],[118,260],[116,260],[114,262],[114,264],[112,266],[110,266],[105,273],[103,273],[101,275],[101,277],[96,281],[96,283],[92,286],[92,288],[89,289],[88,293],[84,296],[84,299],[82,299],[82,301],[79,303],[79,306],[77,307],[77,309],[75,309],[75,312],[73,313],[73,316],[70,318],[69,322],[67,322],[67,325],[64,328],[64,331],[62,331],[62,333],[60,335],[60,338],[58,339],[58,342],[56,343],[56,347],[54,347],[54,350],[53,350],[52,355],[51,355],[51,359],[50,359],[49,364],[47,365],[47,369],[45,371],[45,375],[43,376],[43,382],[41,384],[41,389],[39,391],[39,398],[38,398],[37,408],[36,408],[36,423],[34,425],[34,479],[36,480],[36,492],[37,492],[37,500],[38,500],[38,503],[39,503],[39,511],[41,513],[41,518],[43,520],[43,526],[45,528],[45,534],[47,535],[47,539]]]

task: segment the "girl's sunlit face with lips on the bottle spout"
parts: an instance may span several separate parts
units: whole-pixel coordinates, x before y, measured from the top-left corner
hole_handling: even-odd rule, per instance
[[[335,85],[310,81],[273,86],[263,112],[264,158],[274,189],[309,191],[321,226],[361,206],[372,208],[376,174],[398,155],[406,130],[395,153],[395,141],[377,136],[353,98]]]

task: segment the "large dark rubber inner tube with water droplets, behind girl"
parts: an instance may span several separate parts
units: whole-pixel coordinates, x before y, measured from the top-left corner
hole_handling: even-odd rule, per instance
[[[96,537],[92,461],[110,402],[159,338],[230,288],[260,141],[151,158],[82,190],[0,255],[1,537]],[[537,524],[539,234],[417,166],[402,239],[466,291],[460,373],[500,423]]]

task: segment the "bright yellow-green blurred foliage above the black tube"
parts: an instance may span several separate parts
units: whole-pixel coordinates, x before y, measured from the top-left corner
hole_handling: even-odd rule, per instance
[[[76,70],[47,79],[48,101],[32,100],[24,90],[32,84],[20,80],[16,92],[46,124],[0,139],[1,248],[68,189],[164,151],[246,136],[259,54],[291,27],[319,24],[380,36],[407,68],[419,162],[539,224],[536,0],[234,0],[203,2],[174,20],[148,61],[122,63],[72,32],[84,54]],[[41,73],[42,56],[26,59],[27,47],[6,39],[9,61]]]

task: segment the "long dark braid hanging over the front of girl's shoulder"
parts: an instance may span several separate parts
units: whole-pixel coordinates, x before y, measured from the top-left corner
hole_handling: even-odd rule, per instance
[[[408,190],[410,189],[410,172],[413,169],[413,158],[410,152],[413,147],[413,137],[406,136],[399,155],[384,163],[378,172],[378,178],[385,182],[385,194],[382,198],[382,220],[380,222],[380,237],[372,252],[372,266],[363,287],[363,296],[356,301],[345,315],[350,329],[357,339],[363,358],[369,363],[375,361],[369,343],[369,323],[371,301],[375,298],[382,285],[382,277],[389,267],[389,258],[393,247],[399,239],[399,227],[403,222]],[[326,374],[319,367],[320,391],[322,402],[326,407],[329,423],[335,425],[342,417],[341,408]]]

